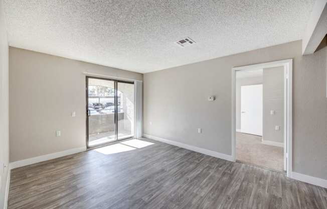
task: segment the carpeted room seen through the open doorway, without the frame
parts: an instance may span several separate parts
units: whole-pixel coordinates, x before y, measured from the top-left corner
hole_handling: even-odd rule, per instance
[[[284,172],[284,67],[236,72],[236,160]]]

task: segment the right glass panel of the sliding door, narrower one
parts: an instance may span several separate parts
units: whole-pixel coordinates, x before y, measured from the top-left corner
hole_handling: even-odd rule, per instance
[[[134,136],[134,84],[117,82],[117,138]]]

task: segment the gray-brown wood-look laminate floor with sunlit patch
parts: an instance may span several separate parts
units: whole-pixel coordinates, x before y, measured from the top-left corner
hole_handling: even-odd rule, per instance
[[[8,208],[312,209],[327,189],[144,139],[13,169]]]

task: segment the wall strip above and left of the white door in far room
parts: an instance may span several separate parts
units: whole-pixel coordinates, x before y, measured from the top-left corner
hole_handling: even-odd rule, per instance
[[[255,84],[262,84],[262,76],[236,79],[236,129],[241,129],[241,86]]]

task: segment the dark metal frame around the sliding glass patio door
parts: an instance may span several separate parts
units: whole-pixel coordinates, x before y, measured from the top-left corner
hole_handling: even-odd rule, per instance
[[[88,145],[88,141],[89,141],[89,120],[88,120],[88,79],[89,78],[94,78],[94,79],[101,79],[101,80],[110,80],[110,81],[113,81],[114,82],[114,104],[115,104],[115,114],[114,114],[114,124],[115,124],[115,141],[112,141],[112,142],[107,142],[107,143],[103,143],[103,144],[99,144],[99,145],[95,145],[95,146],[89,146]],[[90,75],[86,75],[85,76],[85,109],[86,109],[86,115],[85,115],[85,121],[86,121],[86,148],[89,149],[89,148],[94,148],[94,147],[100,147],[100,146],[104,146],[104,145],[107,145],[107,144],[112,144],[112,143],[116,143],[118,141],[121,141],[121,140],[125,140],[125,139],[130,139],[130,138],[133,138],[134,136],[131,136],[131,137],[124,137],[124,138],[121,138],[121,139],[118,139],[118,82],[121,82],[121,83],[130,83],[130,84],[133,84],[134,85],[134,91],[135,91],[135,83],[134,81],[126,81],[126,80],[117,80],[117,79],[112,79],[112,78],[104,78],[104,77],[95,77],[95,76],[90,76]],[[134,109],[135,109],[135,92],[134,92]],[[135,112],[135,110],[134,110]],[[134,114],[134,117],[135,117],[135,114]],[[135,123],[135,118],[134,118],[134,123]],[[133,124],[134,125],[134,124]],[[135,127],[135,125],[134,125]],[[134,130],[135,132],[135,130]],[[134,133],[135,135],[135,133]]]

